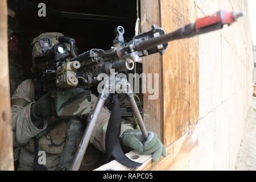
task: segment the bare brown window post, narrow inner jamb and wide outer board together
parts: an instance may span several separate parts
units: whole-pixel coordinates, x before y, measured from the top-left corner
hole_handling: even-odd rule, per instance
[[[152,24],[171,32],[196,19],[195,4],[178,0],[142,0],[142,31]],[[159,73],[160,96],[148,101],[144,94],[144,120],[166,146],[195,126],[199,117],[198,40],[179,40],[169,44],[164,56],[143,60],[144,73]]]

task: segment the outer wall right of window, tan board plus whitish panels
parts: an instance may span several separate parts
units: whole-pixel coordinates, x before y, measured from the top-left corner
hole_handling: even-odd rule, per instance
[[[160,26],[167,32],[220,9],[249,14],[246,0],[158,2]],[[220,31],[170,43],[161,67],[168,155],[142,169],[234,169],[251,100],[251,50],[249,16]]]

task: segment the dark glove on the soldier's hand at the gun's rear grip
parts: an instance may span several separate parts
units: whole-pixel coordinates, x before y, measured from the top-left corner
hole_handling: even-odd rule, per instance
[[[38,101],[31,105],[30,118],[32,122],[42,121],[52,115],[50,93],[44,94]]]

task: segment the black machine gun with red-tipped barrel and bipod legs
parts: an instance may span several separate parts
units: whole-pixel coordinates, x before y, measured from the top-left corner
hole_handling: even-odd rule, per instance
[[[142,63],[141,59],[143,56],[148,56],[154,53],[160,53],[163,55],[164,51],[166,51],[168,47],[168,42],[178,39],[192,38],[196,35],[220,30],[225,24],[230,25],[233,22],[236,22],[240,16],[243,16],[243,13],[218,11],[212,16],[197,19],[195,23],[187,24],[186,26],[169,34],[166,34],[163,28],[153,25],[152,30],[135,36],[130,42],[124,41],[123,34],[125,33],[125,30],[122,26],[119,26],[115,28],[116,38],[113,41],[112,48],[107,51],[102,49],[90,49],[76,57],[71,55],[72,51],[70,55],[63,54],[65,49],[63,44],[69,44],[72,50],[75,40],[61,36],[59,38],[60,44],[57,44],[54,47],[55,52],[57,52],[54,56],[55,61],[53,61],[51,69],[47,70],[43,76],[43,81],[46,83],[45,85],[51,85],[51,87],[55,89],[90,88],[92,84],[99,82],[97,76],[100,73],[105,73],[109,76],[109,80],[105,81],[102,93],[100,93],[100,96],[98,97],[94,111],[90,115],[85,133],[76,152],[75,159],[73,160],[71,170],[79,169],[94,126],[96,125],[98,115],[104,106],[104,102],[109,97],[110,91],[117,91],[115,88],[117,88],[117,85],[119,84],[126,85],[125,88],[122,88],[122,91],[125,92],[129,98],[144,139],[147,139],[148,137],[146,127],[134,100],[129,82],[123,79],[118,81],[112,80],[110,78],[111,75],[115,75],[115,73],[118,72],[132,70],[136,62]],[[114,69],[114,72],[112,69]],[[109,123],[109,125],[112,124]],[[117,126],[115,129],[118,130],[120,126]],[[118,133],[115,137],[119,138]],[[119,140],[117,141],[117,139],[114,139],[114,141],[114,143],[119,143]],[[108,142],[106,142],[106,144],[107,143]],[[119,150],[119,153],[113,152],[114,149]],[[124,154],[120,154],[120,150],[120,144],[112,144],[112,148],[110,148],[108,153],[109,155],[112,154],[118,162],[125,166],[140,166],[140,163],[132,162],[130,159],[127,159]]]

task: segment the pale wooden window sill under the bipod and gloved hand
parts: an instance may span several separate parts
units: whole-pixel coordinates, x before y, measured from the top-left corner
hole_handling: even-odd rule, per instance
[[[139,155],[131,151],[126,156],[135,162],[143,163],[139,168],[127,168],[116,160],[101,166],[95,171],[169,171],[185,170],[189,159],[195,153],[199,145],[198,139],[191,130],[176,142],[167,147],[167,157],[161,157],[158,163],[153,163],[151,155]],[[135,159],[136,158],[136,159]]]

